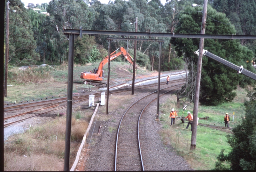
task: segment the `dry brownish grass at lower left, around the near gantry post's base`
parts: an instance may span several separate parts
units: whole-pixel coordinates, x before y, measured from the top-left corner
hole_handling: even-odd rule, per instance
[[[87,121],[72,118],[71,140],[81,140],[87,127]],[[10,137],[4,145],[4,168],[8,171],[62,170],[65,132],[66,118],[59,117]]]

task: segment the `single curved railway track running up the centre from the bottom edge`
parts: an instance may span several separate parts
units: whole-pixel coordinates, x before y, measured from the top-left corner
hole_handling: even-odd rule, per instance
[[[172,85],[161,89],[170,91],[176,90],[184,83]],[[132,104],[123,114],[117,132],[115,150],[115,171],[116,170],[144,170],[143,154],[140,147],[139,129],[140,117],[145,108],[154,100],[157,95],[154,91]],[[161,94],[161,96],[163,95]],[[143,126],[145,127],[145,126]],[[137,132],[136,132],[137,129]]]

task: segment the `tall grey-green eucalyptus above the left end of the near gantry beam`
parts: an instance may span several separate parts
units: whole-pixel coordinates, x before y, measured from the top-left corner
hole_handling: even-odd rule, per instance
[[[47,22],[53,28],[49,46],[54,48],[54,56],[60,62],[66,60],[68,43],[63,34],[64,29],[91,29],[95,19],[95,11],[89,8],[89,2],[83,0],[52,0],[47,11],[50,17]]]

